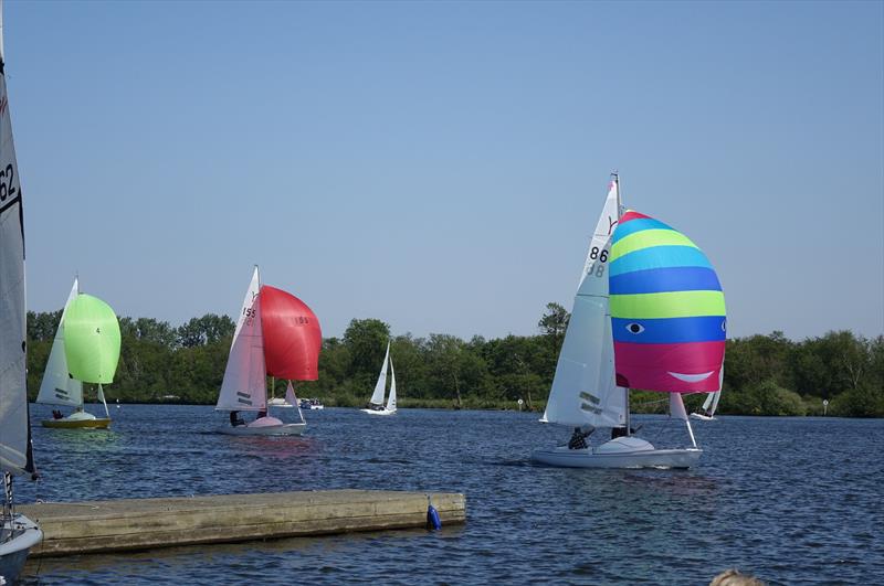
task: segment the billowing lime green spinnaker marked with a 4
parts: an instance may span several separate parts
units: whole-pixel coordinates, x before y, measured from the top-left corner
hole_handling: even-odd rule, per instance
[[[74,379],[85,383],[114,382],[119,362],[119,322],[110,306],[80,294],[64,315],[64,356]]]

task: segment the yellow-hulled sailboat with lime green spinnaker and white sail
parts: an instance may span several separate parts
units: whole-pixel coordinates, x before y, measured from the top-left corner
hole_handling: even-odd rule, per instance
[[[103,385],[113,381],[119,344],[119,322],[114,310],[101,299],[81,294],[80,281],[75,278],[36,396],[38,403],[73,407],[74,412],[64,417],[60,411],[54,411],[53,419],[41,422],[43,427],[105,429],[110,425]],[[69,366],[69,354],[72,366]],[[105,417],[83,411],[83,381],[98,383]]]

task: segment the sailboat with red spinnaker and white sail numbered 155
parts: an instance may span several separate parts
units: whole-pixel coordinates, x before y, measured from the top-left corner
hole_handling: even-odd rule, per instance
[[[316,315],[297,297],[261,285],[257,266],[245,291],[230,347],[224,380],[215,411],[231,413],[231,425],[221,428],[229,435],[301,435],[307,427],[298,407],[298,423],[286,424],[267,415],[267,375],[286,379],[285,402],[298,405],[292,381],[319,377],[318,361],[323,333]],[[245,423],[239,412],[254,411],[257,417]]]

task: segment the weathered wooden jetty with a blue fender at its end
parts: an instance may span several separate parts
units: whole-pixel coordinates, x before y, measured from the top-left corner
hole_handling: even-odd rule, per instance
[[[443,526],[465,522],[463,494],[379,490],[48,502],[17,510],[43,530],[31,556],[60,556],[420,528],[428,496]]]

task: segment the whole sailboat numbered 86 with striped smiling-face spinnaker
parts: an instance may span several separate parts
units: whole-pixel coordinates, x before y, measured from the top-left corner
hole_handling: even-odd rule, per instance
[[[706,256],[683,234],[621,213],[614,173],[590,242],[546,412],[573,428],[567,445],[532,459],[578,468],[690,468],[699,460],[682,393],[719,390],[725,307]],[[688,447],[657,449],[633,435],[629,388],[669,393]],[[611,439],[591,444],[596,429]]]

